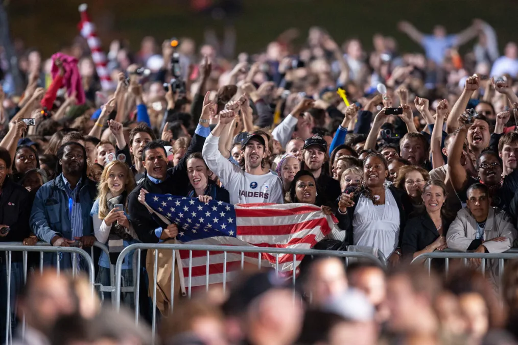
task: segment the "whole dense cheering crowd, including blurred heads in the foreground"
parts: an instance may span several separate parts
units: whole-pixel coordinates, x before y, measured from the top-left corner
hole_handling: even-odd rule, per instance
[[[485,274],[480,259],[452,261],[442,278],[408,264],[447,248],[514,246],[518,48],[509,42],[500,56],[481,20],[453,35],[439,25],[430,35],[408,22],[399,29],[424,54],[400,52],[381,34],[372,52],[356,39],[340,47],[320,27],[300,49],[288,31],[236,61],[218,44],[196,50],[190,38],[159,49],[146,37],[138,52],[113,41],[104,67],[113,89],[102,87],[110,78],[82,40],[47,59],[19,47],[25,89],[17,94],[5,70],[0,93],[0,241],[103,243],[109,255],[96,262],[96,283],[110,286],[125,247],[179,234],[153,215],[147,193],[312,204],[338,229],[315,249],[377,248],[389,273],[315,259],[300,266],[295,292],[275,272],[249,273],[227,295],[178,297],[161,318],[164,343],[515,343],[518,265],[506,264],[502,277],[497,261]],[[43,260],[76,265],[67,253]],[[46,271],[24,284],[21,253],[0,261],[0,295],[10,299],[8,308],[0,298],[2,341],[10,313],[15,338],[25,315],[20,343],[150,342],[124,313],[99,310],[80,279]],[[123,286],[134,282],[133,264],[126,256]],[[433,266],[442,272],[444,262]],[[146,318],[154,306],[141,283],[145,296],[121,299],[128,308],[137,300]]]

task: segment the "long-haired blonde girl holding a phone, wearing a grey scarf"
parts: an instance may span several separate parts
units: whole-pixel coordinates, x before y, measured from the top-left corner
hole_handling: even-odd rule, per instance
[[[105,243],[110,256],[103,252],[99,258],[99,273],[96,283],[110,285],[110,263],[115,264],[119,253],[125,247],[138,242],[127,214],[127,196],[135,188],[135,179],[127,164],[119,160],[109,163],[103,170],[90,215],[93,218],[94,234],[97,241]],[[122,209],[119,205],[122,205]],[[116,207],[118,206],[118,207]],[[123,286],[131,286],[133,254],[129,254],[122,264]],[[110,298],[109,293],[104,293]],[[133,293],[123,293],[125,303],[133,305]]]

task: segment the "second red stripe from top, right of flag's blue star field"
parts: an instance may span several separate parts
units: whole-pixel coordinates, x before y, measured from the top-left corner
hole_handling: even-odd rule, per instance
[[[290,225],[270,225],[270,226],[238,226],[238,236],[250,236],[250,235],[289,235],[294,234],[302,230],[314,229],[315,227],[321,227],[322,232],[327,235],[324,231],[330,231],[329,224],[326,218],[312,219],[308,221],[302,221],[297,224]]]

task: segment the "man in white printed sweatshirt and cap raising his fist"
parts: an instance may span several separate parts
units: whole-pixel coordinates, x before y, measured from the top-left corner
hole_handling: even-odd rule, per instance
[[[264,171],[266,143],[260,134],[249,134],[241,144],[239,167],[229,162],[218,151],[218,143],[226,124],[234,117],[232,110],[223,110],[203,146],[203,158],[209,169],[223,183],[232,204],[283,203],[282,182],[279,176]]]

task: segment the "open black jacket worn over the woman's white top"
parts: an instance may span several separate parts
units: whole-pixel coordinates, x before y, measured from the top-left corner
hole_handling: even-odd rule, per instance
[[[392,192],[392,195],[394,196],[394,199],[396,200],[397,207],[399,208],[399,242],[398,247],[401,247],[401,242],[403,238],[404,229],[407,224],[408,215],[413,211],[412,203],[410,202],[410,199],[408,198],[408,194],[406,191],[401,190],[399,188],[396,188],[394,186],[389,187],[390,191]],[[352,193],[355,191],[355,188],[347,188],[345,190],[346,193]],[[347,218],[344,218],[343,221],[340,222],[340,225],[343,224],[342,228],[343,230],[346,230],[347,236],[349,237],[347,239],[347,242],[349,244],[354,245],[353,241],[353,215],[354,211],[356,209],[356,204],[359,200],[359,194],[354,194],[354,205],[347,208]]]

